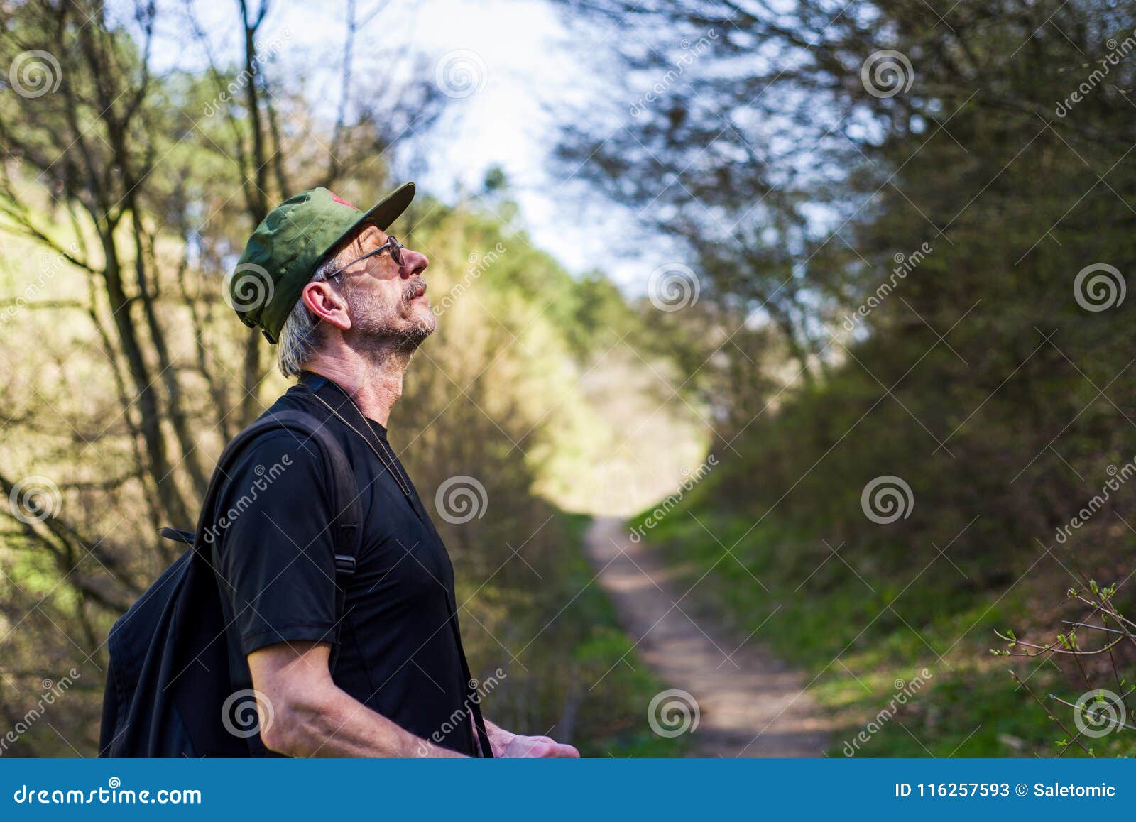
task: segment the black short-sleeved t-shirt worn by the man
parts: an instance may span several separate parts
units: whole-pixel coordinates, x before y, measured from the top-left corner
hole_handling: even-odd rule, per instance
[[[476,756],[453,567],[386,442],[386,429],[373,420],[364,427],[348,396],[311,374],[266,414],[285,410],[325,421],[354,470],[362,503],[333,680],[404,730]],[[291,430],[253,442],[229,471],[216,511],[236,515],[214,540],[211,561],[228,626],[234,693],[252,688],[245,656],[253,651],[274,643],[334,640],[335,551],[328,522],[335,512],[326,481],[316,444]],[[266,750],[259,735],[250,738],[250,747],[254,754]]]

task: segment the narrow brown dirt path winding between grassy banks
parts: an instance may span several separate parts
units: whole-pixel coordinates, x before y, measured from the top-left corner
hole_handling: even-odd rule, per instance
[[[630,542],[620,520],[598,519],[585,543],[636,651],[669,688],[687,691],[698,703],[699,724],[691,731],[698,755],[821,755],[825,724],[802,693],[805,680],[799,673],[752,640],[738,647],[712,626],[687,616],[690,602],[676,604],[683,592],[671,590],[662,564]],[[674,724],[660,723],[665,730],[682,721],[677,713],[670,719]]]

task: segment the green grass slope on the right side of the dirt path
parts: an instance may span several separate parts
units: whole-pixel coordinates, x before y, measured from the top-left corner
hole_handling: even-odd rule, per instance
[[[1002,647],[993,629],[1026,612],[1024,592],[961,585],[934,554],[904,585],[870,555],[834,556],[768,520],[746,532],[750,520],[704,509],[671,512],[648,539],[700,619],[737,641],[753,631],[751,641],[804,672],[835,723],[830,756],[1084,755],[1062,753],[1055,743],[1066,735],[1014,686],[1010,661],[989,653]],[[911,559],[903,580],[925,564]],[[1028,662],[1016,670],[1035,694],[1068,690],[1054,665]],[[1054,713],[1074,728],[1069,708]],[[1119,735],[1085,741],[1097,755],[1133,753]]]

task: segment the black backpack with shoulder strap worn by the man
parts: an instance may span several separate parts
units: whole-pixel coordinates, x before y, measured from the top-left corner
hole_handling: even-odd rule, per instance
[[[110,629],[110,665],[102,704],[100,756],[250,756],[249,735],[233,733],[234,711],[252,715],[251,696],[232,704],[228,645],[220,592],[210,564],[206,529],[227,469],[253,438],[287,429],[304,446],[323,454],[331,498],[339,512],[332,522],[335,545],[336,614],[354,573],[362,521],[354,473],[324,422],[303,411],[266,414],[239,434],[217,461],[197,534],[162,528],[165,537],[187,543],[182,554]],[[339,647],[336,620],[335,645]],[[334,652],[333,652],[334,653]],[[332,661],[334,664],[334,660]],[[227,721],[226,721],[227,720]],[[241,723],[241,728],[245,728]]]

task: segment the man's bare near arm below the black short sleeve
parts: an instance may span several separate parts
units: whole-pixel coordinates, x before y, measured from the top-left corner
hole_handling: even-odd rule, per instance
[[[404,731],[333,681],[329,649],[312,641],[276,643],[249,654],[261,705],[260,739],[289,756],[461,757]],[[258,701],[261,696],[258,695]]]

